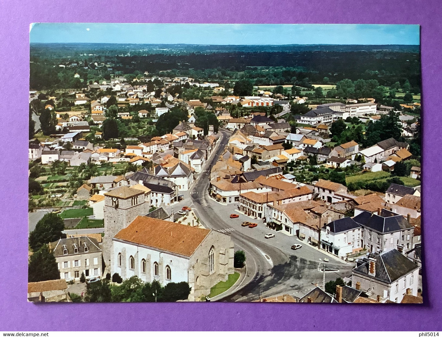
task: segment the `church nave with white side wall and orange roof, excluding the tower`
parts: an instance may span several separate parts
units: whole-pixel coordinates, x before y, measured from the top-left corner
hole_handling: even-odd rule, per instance
[[[112,251],[111,274],[158,280],[163,286],[187,282],[189,301],[208,295],[234,273],[229,235],[146,216],[137,216],[114,235]]]

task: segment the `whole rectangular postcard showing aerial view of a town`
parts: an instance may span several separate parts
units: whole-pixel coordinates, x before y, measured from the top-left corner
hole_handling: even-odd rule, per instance
[[[28,301],[423,303],[419,43],[32,24]]]

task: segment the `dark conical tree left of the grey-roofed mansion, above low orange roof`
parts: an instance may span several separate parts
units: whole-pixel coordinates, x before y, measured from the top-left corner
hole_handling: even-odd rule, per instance
[[[31,255],[28,265],[28,282],[59,280],[57,261],[47,245],[42,245]]]

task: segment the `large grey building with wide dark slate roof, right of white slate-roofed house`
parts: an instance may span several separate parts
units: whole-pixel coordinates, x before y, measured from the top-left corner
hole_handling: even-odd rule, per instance
[[[371,253],[412,248],[414,227],[399,214],[386,209],[375,214],[364,211],[353,220],[362,226],[364,248]]]

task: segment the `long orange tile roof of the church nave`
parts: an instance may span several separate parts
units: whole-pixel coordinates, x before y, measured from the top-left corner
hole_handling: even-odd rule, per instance
[[[206,228],[137,216],[114,238],[190,257],[209,233]]]

